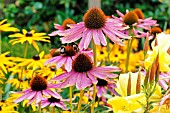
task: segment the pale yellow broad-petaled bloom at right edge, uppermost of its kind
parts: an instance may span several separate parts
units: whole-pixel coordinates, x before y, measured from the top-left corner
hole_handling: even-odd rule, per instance
[[[159,53],[159,66],[161,72],[170,71],[170,55],[167,53],[167,50],[170,48],[170,35],[160,33],[158,34],[157,42],[158,45],[154,46],[155,41],[152,42],[153,51],[148,52],[148,57],[144,62],[145,68],[148,69],[153,61],[156,59],[156,56]]]

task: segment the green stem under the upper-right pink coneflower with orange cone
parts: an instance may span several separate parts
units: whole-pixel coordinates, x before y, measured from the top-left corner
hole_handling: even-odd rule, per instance
[[[129,66],[129,57],[130,57],[130,52],[132,48],[132,42],[133,42],[133,37],[131,40],[128,40],[128,47],[127,47],[127,56],[126,56],[126,73],[128,72],[128,66]]]

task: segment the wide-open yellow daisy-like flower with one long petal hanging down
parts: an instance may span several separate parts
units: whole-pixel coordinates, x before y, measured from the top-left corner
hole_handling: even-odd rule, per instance
[[[17,43],[23,44],[24,42],[28,42],[29,44],[32,44],[34,48],[39,52],[39,47],[36,41],[50,42],[50,40],[47,40],[50,39],[50,37],[45,36],[46,33],[35,33],[34,30],[28,32],[25,29],[23,29],[22,32],[23,34],[16,33],[13,35],[9,35],[10,38],[15,38],[10,40],[10,43],[12,43],[12,45]]]

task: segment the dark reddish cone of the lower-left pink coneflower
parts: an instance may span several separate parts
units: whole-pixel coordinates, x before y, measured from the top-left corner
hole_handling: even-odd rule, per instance
[[[47,88],[47,81],[41,75],[35,75],[30,81],[30,86],[33,91],[42,91]]]

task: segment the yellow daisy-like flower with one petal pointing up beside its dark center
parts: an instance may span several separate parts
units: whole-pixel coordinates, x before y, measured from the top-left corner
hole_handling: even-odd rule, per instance
[[[47,59],[43,59],[44,51],[42,51],[39,55],[35,55],[32,57],[32,59],[23,59],[21,63],[16,65],[16,68],[19,66],[26,67],[27,69],[42,69],[44,67],[44,62]]]

